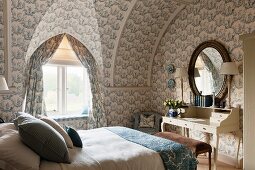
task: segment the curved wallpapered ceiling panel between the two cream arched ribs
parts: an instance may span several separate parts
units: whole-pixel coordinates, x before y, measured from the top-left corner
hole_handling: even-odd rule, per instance
[[[113,86],[149,86],[152,61],[162,35],[184,8],[181,1],[138,0],[129,17],[113,60]]]

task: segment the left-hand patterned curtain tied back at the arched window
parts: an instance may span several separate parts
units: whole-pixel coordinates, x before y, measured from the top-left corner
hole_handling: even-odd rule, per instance
[[[55,53],[64,34],[54,36],[41,44],[32,54],[26,66],[25,112],[32,115],[46,114],[43,102],[43,72],[46,64]]]

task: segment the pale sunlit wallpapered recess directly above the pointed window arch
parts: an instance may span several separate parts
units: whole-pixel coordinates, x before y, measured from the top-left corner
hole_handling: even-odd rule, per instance
[[[61,33],[68,33],[83,43],[102,65],[101,39],[92,0],[56,1],[47,10],[31,39],[27,57],[44,41]]]

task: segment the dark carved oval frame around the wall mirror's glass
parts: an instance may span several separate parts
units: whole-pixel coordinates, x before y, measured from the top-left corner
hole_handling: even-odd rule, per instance
[[[231,61],[227,49],[218,41],[210,40],[210,41],[205,41],[201,43],[192,53],[192,56],[189,62],[189,69],[188,69],[190,88],[193,94],[195,95],[200,95],[195,83],[195,78],[194,78],[195,63],[200,52],[207,47],[212,47],[216,49],[220,53],[223,62]],[[227,76],[225,75],[223,78],[223,84],[220,88],[220,91],[217,94],[215,94],[215,102],[218,103],[221,100],[223,100],[225,96],[227,95],[227,92],[228,92],[227,91]]]

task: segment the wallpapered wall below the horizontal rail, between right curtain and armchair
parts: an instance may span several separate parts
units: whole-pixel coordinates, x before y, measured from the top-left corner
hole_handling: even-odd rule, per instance
[[[108,125],[132,126],[132,114],[151,111],[149,88],[109,88],[105,92],[105,110]],[[154,110],[156,111],[156,110]]]

